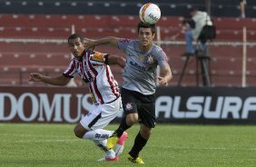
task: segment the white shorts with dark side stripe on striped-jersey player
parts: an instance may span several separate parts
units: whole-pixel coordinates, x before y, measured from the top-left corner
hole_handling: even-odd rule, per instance
[[[93,105],[80,123],[87,130],[103,129],[122,111],[122,100],[119,97],[113,103]]]

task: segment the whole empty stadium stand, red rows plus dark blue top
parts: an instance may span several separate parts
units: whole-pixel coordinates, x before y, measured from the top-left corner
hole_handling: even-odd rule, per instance
[[[75,32],[82,33],[89,38],[100,38],[107,35],[129,38],[137,36],[136,24],[139,21],[137,12],[141,6],[139,2],[118,1],[119,4],[115,4],[114,7],[115,15],[110,15],[111,13],[105,10],[110,6],[113,7],[112,3],[107,4],[99,0],[94,2],[44,1],[43,4],[40,2],[32,0],[0,2],[0,11],[2,13],[0,15],[0,84],[33,84],[27,82],[28,74],[31,71],[45,74],[61,73],[70,59],[65,40],[72,33],[72,25],[75,27]],[[214,9],[212,9],[212,14],[215,14],[216,7],[221,10],[223,7],[231,6],[230,0],[218,2],[218,5],[215,1],[212,4]],[[249,1],[248,3],[252,2]],[[2,10],[3,5],[5,5],[5,10]],[[89,7],[84,13],[80,13],[76,7],[83,5],[91,6],[92,8]],[[165,8],[163,5],[166,5],[164,6]],[[178,0],[173,1],[172,4],[169,4],[167,0],[162,0],[160,3],[162,18],[157,25],[161,27],[161,40],[173,43],[172,45],[162,44],[162,48],[170,57],[174,75],[172,85],[177,84],[182,64],[185,61],[181,56],[185,49],[184,45],[175,44],[175,42],[183,42],[182,15],[184,14],[180,14],[178,11],[186,11],[194,5],[202,7],[204,6],[204,1],[191,0],[186,5]],[[220,5],[223,7],[220,7]],[[34,6],[34,9],[28,9],[32,6]],[[136,10],[136,15],[133,15],[131,10],[129,15],[126,14],[128,13],[127,7],[131,8],[131,6],[133,6],[133,10]],[[38,9],[40,7],[44,8],[44,14],[41,14],[43,9]],[[64,13],[64,9],[67,9],[67,7],[71,9],[66,10]],[[232,7],[234,6],[232,5]],[[12,11],[14,8],[18,10]],[[55,10],[55,8],[58,9]],[[94,8],[97,8],[97,15],[92,15],[95,11],[90,13]],[[177,13],[169,13],[169,8],[170,11]],[[183,9],[181,10],[181,8]],[[25,9],[27,10],[25,11]],[[235,11],[235,9],[233,10]],[[74,11],[77,12],[75,13]],[[55,12],[58,14],[55,14]],[[104,13],[108,15],[103,15]],[[212,86],[241,86],[242,27],[247,27],[248,42],[255,42],[256,39],[256,19],[250,17],[241,19],[235,17],[234,13],[232,14],[232,17],[226,17],[229,16],[226,14],[213,15],[212,17],[217,28],[217,39],[210,46],[212,54]],[[11,42],[10,40],[12,39],[20,39],[22,42]],[[37,40],[37,42],[32,42],[33,39]],[[56,41],[50,41],[51,39]],[[61,43],[58,43],[60,41]],[[226,44],[218,44],[218,42]],[[97,49],[110,54],[122,54],[108,46]],[[253,57],[255,51],[255,45],[247,47],[249,86],[256,85],[254,79],[256,59]],[[113,73],[119,83],[122,83],[122,70],[113,67]],[[192,59],[184,75],[182,85],[195,85],[195,74],[195,60]],[[78,84],[83,85],[83,83]]]

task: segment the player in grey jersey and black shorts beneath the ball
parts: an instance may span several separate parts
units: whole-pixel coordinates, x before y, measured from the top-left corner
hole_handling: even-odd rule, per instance
[[[110,36],[89,40],[84,45],[88,48],[100,44],[111,44],[126,55],[122,86],[125,116],[118,129],[108,139],[107,147],[112,149],[123,132],[139,121],[140,132],[135,137],[133,148],[127,158],[131,162],[142,164],[144,162],[139,153],[143,150],[155,126],[155,82],[158,79],[161,85],[168,85],[172,79],[172,72],[162,48],[153,44],[155,25],[144,25],[141,22],[137,28],[137,40]],[[160,76],[156,78],[157,65],[160,66]]]

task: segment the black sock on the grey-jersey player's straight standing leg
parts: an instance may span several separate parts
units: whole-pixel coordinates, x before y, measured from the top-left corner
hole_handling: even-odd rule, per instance
[[[143,147],[146,145],[147,142],[148,140],[144,139],[142,134],[139,132],[134,140],[133,148],[131,152],[129,152],[130,155],[133,158],[137,158],[139,156],[139,152],[143,150]]]

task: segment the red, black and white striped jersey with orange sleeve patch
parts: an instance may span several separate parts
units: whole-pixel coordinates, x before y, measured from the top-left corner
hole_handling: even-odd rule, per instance
[[[84,51],[80,59],[72,59],[64,76],[73,78],[79,74],[89,90],[94,103],[110,103],[120,96],[118,83],[108,65],[108,54]]]

